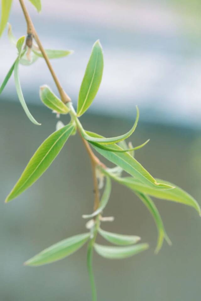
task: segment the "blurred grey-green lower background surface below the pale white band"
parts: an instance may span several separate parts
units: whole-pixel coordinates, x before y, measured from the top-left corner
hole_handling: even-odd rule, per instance
[[[31,106],[30,110],[42,122],[40,127],[30,123],[19,104],[1,103],[0,299],[89,301],[86,246],[54,264],[23,266],[47,246],[85,231],[81,216],[91,212],[93,192],[90,161],[79,136],[70,137],[39,181],[3,203],[36,148],[55,129],[55,116],[48,109]],[[86,129],[108,136],[124,133],[132,124],[99,115],[86,115],[82,122]],[[196,130],[140,121],[131,141],[138,145],[150,138],[145,148],[136,151],[136,158],[153,176],[185,188],[200,203],[199,137]],[[103,224],[103,229],[140,235],[150,249],[122,261],[95,254],[99,300],[200,300],[200,218],[192,208],[164,200],[155,203],[173,242],[172,247],[164,243],[157,256],[157,230],[149,212],[131,191],[113,183],[104,213],[114,215],[115,221]]]

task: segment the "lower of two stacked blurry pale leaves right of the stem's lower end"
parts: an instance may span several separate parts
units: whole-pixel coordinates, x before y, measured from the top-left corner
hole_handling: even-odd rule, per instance
[[[149,248],[148,244],[138,244],[135,246],[128,247],[111,247],[101,246],[98,244],[94,245],[95,251],[100,255],[108,259],[122,259],[131,257]]]

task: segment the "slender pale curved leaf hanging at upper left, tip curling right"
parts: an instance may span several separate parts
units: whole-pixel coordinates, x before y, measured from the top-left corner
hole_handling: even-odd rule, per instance
[[[27,117],[30,119],[31,122],[33,122],[33,124],[36,124],[36,125],[41,125],[40,123],[38,123],[34,117],[31,115],[26,103],[25,103],[25,100],[24,100],[24,96],[23,96],[23,93],[22,93],[22,89],[21,89],[21,85],[20,85],[20,81],[19,81],[19,60],[17,60],[15,62],[15,65],[14,65],[14,80],[15,80],[15,88],[16,88],[16,91],[17,91],[17,94],[18,94],[18,98],[19,98],[19,101],[24,109],[24,112],[26,113]]]

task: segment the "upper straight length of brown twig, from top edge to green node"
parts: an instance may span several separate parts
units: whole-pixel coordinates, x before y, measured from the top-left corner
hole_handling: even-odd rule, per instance
[[[21,5],[22,11],[24,13],[24,18],[25,18],[26,23],[27,23],[27,34],[32,34],[33,37],[35,38],[35,41],[38,44],[38,47],[39,47],[39,49],[40,49],[40,51],[41,51],[41,53],[42,53],[42,55],[43,55],[43,57],[44,57],[44,59],[46,61],[46,64],[47,64],[47,66],[48,66],[48,68],[50,70],[50,73],[52,74],[53,80],[54,80],[54,82],[55,82],[55,84],[57,86],[57,89],[58,89],[58,92],[60,94],[62,102],[63,103],[70,102],[71,99],[66,94],[66,92],[63,90],[63,88],[62,88],[62,86],[61,86],[61,84],[60,84],[60,82],[59,82],[59,80],[58,80],[58,78],[56,76],[56,73],[55,73],[55,71],[52,68],[50,60],[49,60],[48,56],[46,55],[46,52],[45,52],[45,50],[43,48],[43,45],[41,44],[39,36],[38,36],[38,34],[37,34],[36,30],[35,30],[34,24],[33,24],[32,20],[31,20],[30,15],[29,15],[29,13],[27,11],[27,8],[26,8],[26,6],[24,4],[24,0],[19,0],[19,3]]]

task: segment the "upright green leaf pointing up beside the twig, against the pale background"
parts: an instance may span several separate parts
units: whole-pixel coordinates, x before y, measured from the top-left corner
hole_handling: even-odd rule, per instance
[[[90,107],[98,92],[103,74],[103,52],[100,41],[93,45],[84,78],[79,90],[77,115],[81,116]]]

